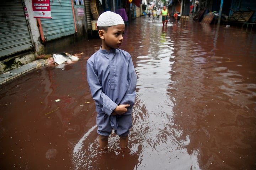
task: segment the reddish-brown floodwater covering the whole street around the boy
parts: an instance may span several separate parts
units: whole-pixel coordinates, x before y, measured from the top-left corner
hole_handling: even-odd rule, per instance
[[[134,126],[128,149],[112,134],[106,153],[86,80],[100,45],[95,38],[59,49],[84,55],[0,86],[0,169],[256,169],[256,32],[129,23],[121,49],[138,76]]]

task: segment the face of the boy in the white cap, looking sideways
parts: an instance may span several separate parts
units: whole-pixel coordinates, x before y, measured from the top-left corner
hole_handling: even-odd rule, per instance
[[[103,50],[118,49],[123,42],[124,24],[111,26],[107,32],[99,30],[100,38],[102,39]]]

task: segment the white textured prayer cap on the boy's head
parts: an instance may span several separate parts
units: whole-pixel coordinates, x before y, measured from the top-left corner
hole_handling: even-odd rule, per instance
[[[124,24],[123,18],[119,14],[111,11],[103,12],[98,17],[98,21],[97,21],[98,27],[110,27],[110,26],[116,26],[119,24]]]

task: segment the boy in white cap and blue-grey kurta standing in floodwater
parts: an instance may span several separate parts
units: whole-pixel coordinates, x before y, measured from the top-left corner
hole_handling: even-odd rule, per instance
[[[118,49],[123,41],[124,21],[107,11],[97,21],[102,40],[100,49],[87,61],[87,81],[96,103],[100,149],[107,149],[112,129],[120,137],[120,147],[128,147],[137,75],[130,54]]]

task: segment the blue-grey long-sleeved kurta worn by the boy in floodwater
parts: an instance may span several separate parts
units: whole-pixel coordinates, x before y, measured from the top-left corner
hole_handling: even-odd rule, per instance
[[[136,97],[137,75],[132,58],[128,52],[120,49],[108,52],[100,48],[88,59],[86,67],[87,81],[98,113],[98,131],[111,132],[111,127],[116,130],[119,115],[113,116],[111,113],[119,104],[130,104],[124,115],[132,114]]]

